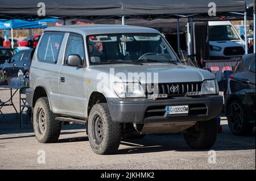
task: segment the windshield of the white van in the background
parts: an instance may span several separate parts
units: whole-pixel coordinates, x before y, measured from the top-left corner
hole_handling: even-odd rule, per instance
[[[210,41],[239,40],[240,37],[231,25],[209,27]]]

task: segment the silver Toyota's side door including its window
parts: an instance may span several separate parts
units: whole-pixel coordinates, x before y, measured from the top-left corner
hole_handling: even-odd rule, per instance
[[[59,102],[63,112],[78,117],[85,116],[85,69],[69,66],[68,56],[77,54],[85,65],[84,41],[81,35],[71,33],[68,38],[64,64],[60,68]]]

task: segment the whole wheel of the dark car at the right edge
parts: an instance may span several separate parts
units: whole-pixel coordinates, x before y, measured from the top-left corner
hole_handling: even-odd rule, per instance
[[[233,134],[245,136],[253,131],[254,125],[246,121],[246,113],[242,104],[233,100],[228,106],[228,124]]]

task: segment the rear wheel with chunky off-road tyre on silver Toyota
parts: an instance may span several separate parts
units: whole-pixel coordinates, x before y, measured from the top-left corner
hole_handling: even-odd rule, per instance
[[[44,112],[45,121],[44,131],[40,129],[38,118],[40,112]],[[41,113],[42,115],[42,113]],[[42,97],[36,100],[35,107],[33,109],[33,127],[36,139],[41,143],[56,142],[59,139],[61,131],[61,122],[55,120],[55,114],[49,108],[49,101],[47,97]],[[41,125],[42,127],[42,125]]]

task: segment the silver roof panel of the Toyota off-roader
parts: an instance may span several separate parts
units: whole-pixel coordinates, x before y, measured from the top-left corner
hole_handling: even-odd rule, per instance
[[[44,31],[61,31],[61,32],[76,32],[84,35],[97,35],[108,33],[159,33],[159,31],[135,26],[122,26],[116,24],[93,24],[93,25],[70,25],[48,27]]]

